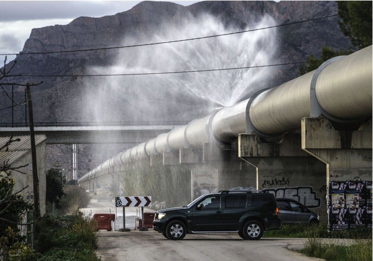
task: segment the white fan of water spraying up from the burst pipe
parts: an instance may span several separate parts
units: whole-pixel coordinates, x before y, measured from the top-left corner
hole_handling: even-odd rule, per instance
[[[273,24],[274,20],[265,16],[244,29]],[[123,44],[163,42],[242,30],[224,26],[217,18],[203,15],[178,24],[164,24],[151,38],[142,35],[127,37]],[[255,67],[275,63],[275,52],[276,30],[272,28],[124,48],[111,66],[90,68],[89,73],[136,74]],[[121,117],[134,121],[195,119],[232,106],[264,88],[269,70],[271,67],[104,78],[100,83],[90,83],[100,85],[98,93],[101,98],[96,97],[95,102],[88,106],[95,108],[97,121],[112,119],[111,112],[119,117],[117,120]],[[105,98],[105,95],[110,98]],[[119,108],[114,104],[121,105],[121,110],[125,111],[122,116],[118,115]]]

